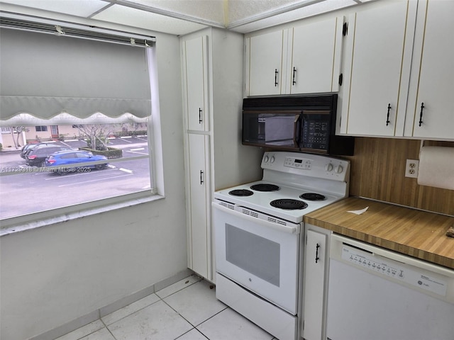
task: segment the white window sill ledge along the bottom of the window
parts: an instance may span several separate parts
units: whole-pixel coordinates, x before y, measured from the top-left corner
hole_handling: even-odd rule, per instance
[[[102,205],[102,206],[94,207],[94,208],[85,208],[82,210],[66,212],[66,213],[62,212],[58,215],[44,217],[42,219],[34,220],[31,222],[18,223],[16,225],[11,225],[9,227],[5,227],[4,229],[0,229],[0,237],[4,237],[9,234],[15,234],[16,232],[25,232],[26,230],[45,227],[47,225],[54,225],[55,223],[76,220],[78,218],[96,215],[101,212],[109,212],[112,210],[131,207],[132,205],[139,205],[139,204],[143,204],[143,203],[153,202],[155,200],[160,200],[162,198],[164,198],[164,196],[160,196],[160,195],[145,196],[145,197],[140,197],[140,198],[131,198],[129,200],[123,200],[121,202],[111,203],[109,205]]]

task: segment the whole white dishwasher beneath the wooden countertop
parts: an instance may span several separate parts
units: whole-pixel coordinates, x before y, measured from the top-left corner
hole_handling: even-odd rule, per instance
[[[454,340],[454,271],[331,235],[326,336]]]

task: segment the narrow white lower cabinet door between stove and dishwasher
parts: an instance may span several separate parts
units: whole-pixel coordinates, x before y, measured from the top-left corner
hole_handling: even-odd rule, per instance
[[[326,235],[306,232],[304,280],[304,339],[321,340],[323,334],[323,300],[326,268]]]

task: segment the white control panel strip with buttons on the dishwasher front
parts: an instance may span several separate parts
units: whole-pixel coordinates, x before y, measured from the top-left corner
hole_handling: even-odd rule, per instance
[[[443,277],[422,268],[408,266],[405,263],[387,259],[383,256],[363,251],[353,246],[343,244],[341,258],[348,263],[380,273],[389,278],[395,278],[416,288],[427,290],[441,296],[446,295],[448,281]]]

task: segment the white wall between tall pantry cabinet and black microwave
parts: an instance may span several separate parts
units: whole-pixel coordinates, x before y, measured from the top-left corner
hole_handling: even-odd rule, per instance
[[[213,28],[214,190],[262,178],[263,149],[241,145],[244,37]]]

